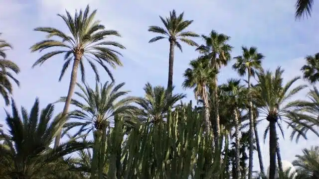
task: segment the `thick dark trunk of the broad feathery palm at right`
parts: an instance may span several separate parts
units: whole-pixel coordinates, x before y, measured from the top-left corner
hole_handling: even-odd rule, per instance
[[[277,150],[277,132],[276,121],[269,122],[269,179],[275,179],[276,174],[276,150]]]

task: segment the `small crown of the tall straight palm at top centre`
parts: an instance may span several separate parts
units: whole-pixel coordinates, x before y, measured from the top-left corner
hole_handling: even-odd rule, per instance
[[[162,16],[160,16],[160,20],[164,24],[165,28],[156,25],[150,26],[150,32],[159,33],[161,34],[161,36],[152,38],[149,41],[149,43],[156,42],[160,39],[168,38],[169,41],[174,42],[175,46],[177,46],[180,51],[182,51],[182,47],[178,40],[190,46],[198,46],[198,44],[195,41],[188,39],[187,37],[198,37],[199,35],[195,32],[184,31],[193,22],[193,20],[184,20],[183,16],[184,12],[177,16],[174,9],[171,12],[169,12],[169,17],[166,17],[164,19]]]

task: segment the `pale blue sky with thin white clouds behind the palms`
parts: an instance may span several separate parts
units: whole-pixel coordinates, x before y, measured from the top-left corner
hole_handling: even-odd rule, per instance
[[[160,40],[149,44],[156,34],[148,32],[148,26],[160,25],[159,15],[167,16],[175,9],[177,13],[184,11],[184,19],[194,20],[188,30],[198,34],[206,34],[214,29],[231,37],[229,43],[234,47],[232,56],[241,54],[241,46],[256,46],[266,57],[263,60],[265,69],[275,70],[277,66],[285,69],[284,79],[288,81],[301,75],[300,68],[305,64],[304,57],[318,52],[319,46],[319,4],[315,4],[311,18],[297,20],[294,18],[294,0],[0,0],[0,32],[1,39],[13,45],[7,51],[7,58],[21,68],[17,76],[20,88],[15,87],[14,99],[18,106],[30,109],[35,98],[39,97],[40,105],[54,102],[67,94],[70,69],[58,82],[63,65],[63,57],[57,56],[42,66],[31,69],[32,64],[41,53],[30,53],[29,47],[45,38],[45,34],[33,31],[35,27],[51,26],[67,32],[62,19],[57,13],[65,13],[65,9],[73,13],[75,9],[98,9],[96,18],[108,29],[119,31],[122,38],[114,40],[122,43],[127,49],[121,50],[124,64],[112,70],[116,83],[125,82],[123,89],[131,90],[130,95],[143,96],[143,87],[147,82],[152,85],[167,84],[168,74],[168,40]],[[194,39],[203,43],[201,38]],[[175,50],[174,92],[187,94],[193,99],[192,90],[184,90],[182,74],[190,60],[198,53],[193,47],[182,44],[183,53]],[[42,53],[43,54],[43,53]],[[219,83],[229,78],[239,78],[231,69],[234,61],[221,69]],[[90,67],[86,68],[89,85],[95,84],[95,76]],[[109,81],[109,77],[100,69],[101,81]],[[299,81],[298,85],[307,84]],[[76,89],[77,90],[77,89]],[[305,99],[309,89],[305,89],[295,98]],[[3,106],[3,100],[0,99]],[[56,105],[56,111],[62,110],[63,104]],[[4,123],[5,113],[0,110],[0,123]],[[259,127],[262,139],[267,122]],[[279,131],[278,131],[279,132]],[[303,148],[318,145],[318,138],[309,133],[308,140],[299,143],[289,140],[290,130],[286,130],[285,139],[280,136],[282,159],[292,162],[295,155],[301,154]],[[262,141],[262,140],[261,140]],[[268,141],[261,142],[264,165],[269,165]],[[254,155],[254,170],[259,170],[257,154]]]

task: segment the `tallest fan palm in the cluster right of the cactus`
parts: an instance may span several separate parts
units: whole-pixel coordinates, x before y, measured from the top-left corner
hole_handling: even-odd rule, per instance
[[[227,44],[230,37],[225,34],[219,34],[212,30],[209,36],[202,35],[205,43],[200,45],[196,50],[199,51],[203,56],[210,60],[211,68],[215,70],[216,74],[219,72],[221,66],[226,66],[230,61],[230,52],[232,46]],[[219,144],[220,136],[220,126],[219,126],[219,113],[218,113],[218,85],[217,85],[217,75],[212,75],[212,84],[209,87],[209,93],[212,95],[213,109],[211,113],[214,115],[214,142],[215,146]],[[212,117],[212,115],[211,115]]]

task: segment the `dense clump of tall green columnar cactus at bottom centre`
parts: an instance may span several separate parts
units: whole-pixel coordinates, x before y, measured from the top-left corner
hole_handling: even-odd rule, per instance
[[[221,179],[221,151],[212,150],[213,137],[204,133],[203,123],[190,104],[169,110],[164,121],[137,124],[128,135],[123,119],[115,117],[106,136],[105,178]]]

